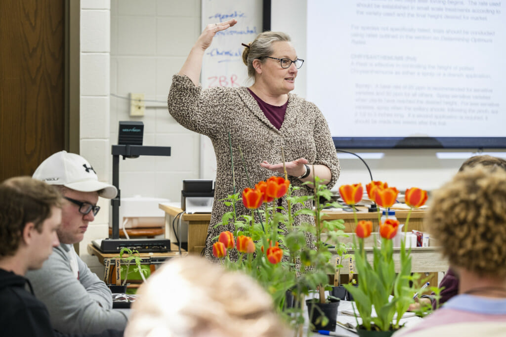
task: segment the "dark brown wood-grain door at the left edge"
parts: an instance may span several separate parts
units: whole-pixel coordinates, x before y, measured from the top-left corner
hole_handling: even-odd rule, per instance
[[[0,181],[65,147],[64,5],[0,0]]]

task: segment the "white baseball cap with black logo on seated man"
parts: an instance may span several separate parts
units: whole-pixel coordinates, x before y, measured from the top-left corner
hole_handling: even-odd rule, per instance
[[[107,199],[118,194],[115,186],[98,181],[97,173],[88,160],[67,151],[56,152],[46,158],[38,165],[32,178],[79,192],[99,192],[101,197]]]

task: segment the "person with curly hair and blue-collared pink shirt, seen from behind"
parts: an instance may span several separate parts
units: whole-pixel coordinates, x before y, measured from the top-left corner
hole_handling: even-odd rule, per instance
[[[445,242],[458,295],[394,336],[503,336],[506,330],[506,171],[465,168],[434,193],[425,219]]]

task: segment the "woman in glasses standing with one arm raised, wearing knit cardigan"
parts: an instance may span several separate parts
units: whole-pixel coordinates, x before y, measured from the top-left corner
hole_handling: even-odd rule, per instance
[[[262,32],[251,43],[242,44],[242,61],[252,80],[251,86],[202,90],[199,77],[206,49],[216,34],[223,34],[222,31],[236,23],[237,20],[232,19],[207,25],[183,67],[173,76],[168,94],[171,115],[183,127],[208,136],[215,149],[215,202],[205,248],[205,256],[209,259],[213,259],[213,238],[222,231],[234,230],[232,224],[215,228],[229,211],[220,200],[252,187],[248,178],[255,184],[270,176],[284,176],[282,149],[290,183],[302,187],[294,191],[294,195],[311,195],[311,186],[302,184],[312,182],[314,176],[331,188],[340,173],[335,146],[323,114],[315,104],[290,93],[295,88],[304,60],[293,48],[287,34]],[[238,214],[250,214],[242,204],[236,206]],[[280,201],[280,206],[287,209],[285,198]],[[297,212],[303,207],[311,208],[311,201],[292,205],[292,211]],[[295,222],[296,226],[303,222],[314,224],[314,218],[299,216]],[[313,241],[308,236],[310,245]]]

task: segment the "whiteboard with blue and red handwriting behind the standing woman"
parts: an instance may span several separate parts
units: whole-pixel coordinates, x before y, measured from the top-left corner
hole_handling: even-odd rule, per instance
[[[248,86],[241,43],[249,44],[262,32],[262,0],[202,0],[202,27],[230,19],[237,24],[219,31],[202,61],[202,89]],[[252,83],[251,83],[252,84]],[[200,178],[216,178],[216,157],[209,138],[200,136]]]

